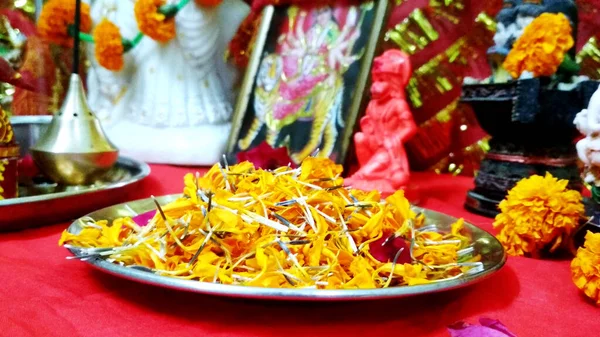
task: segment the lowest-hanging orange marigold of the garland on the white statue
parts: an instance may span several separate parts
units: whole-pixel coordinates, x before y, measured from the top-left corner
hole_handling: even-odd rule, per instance
[[[123,68],[124,47],[119,27],[107,19],[102,20],[94,29],[94,42],[94,55],[101,66],[113,71]]]

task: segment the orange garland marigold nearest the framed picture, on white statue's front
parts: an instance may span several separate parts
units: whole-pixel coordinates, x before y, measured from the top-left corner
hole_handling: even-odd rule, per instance
[[[159,42],[167,42],[175,37],[175,20],[158,12],[165,4],[166,0],[138,0],[134,7],[140,31]]]

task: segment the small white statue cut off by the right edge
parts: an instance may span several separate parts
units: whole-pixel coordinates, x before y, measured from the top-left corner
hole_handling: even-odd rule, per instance
[[[585,136],[577,143],[577,155],[585,165],[584,180],[600,186],[600,88],[588,108],[575,117],[575,126]]]

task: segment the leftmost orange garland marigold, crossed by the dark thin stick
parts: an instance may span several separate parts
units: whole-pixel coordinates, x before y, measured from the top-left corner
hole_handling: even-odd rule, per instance
[[[38,31],[46,41],[64,47],[73,46],[73,37],[69,35],[69,26],[75,23],[75,0],[49,0],[46,2],[38,19]],[[92,29],[90,6],[81,4],[82,32]]]

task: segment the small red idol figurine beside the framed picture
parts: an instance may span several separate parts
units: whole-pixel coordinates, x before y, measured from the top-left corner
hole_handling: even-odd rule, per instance
[[[392,49],[374,60],[371,102],[354,136],[360,169],[346,184],[391,194],[406,187],[410,167],[404,143],[417,132],[404,89],[412,75],[408,55]]]

